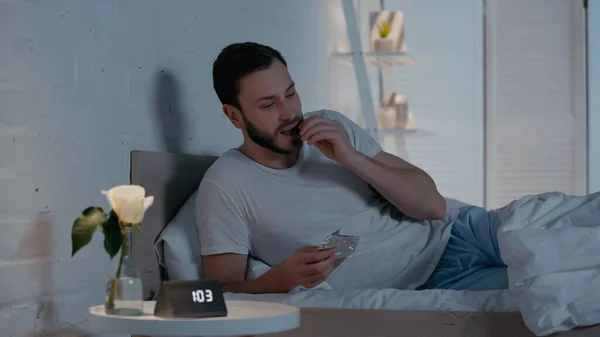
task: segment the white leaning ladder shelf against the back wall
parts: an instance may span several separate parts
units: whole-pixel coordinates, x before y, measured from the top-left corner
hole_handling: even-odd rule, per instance
[[[346,33],[350,44],[350,51],[334,52],[330,57],[346,64],[350,64],[354,68],[358,88],[358,98],[360,100],[362,117],[364,118],[364,129],[369,132],[373,138],[379,140],[384,149],[385,143],[387,143],[384,138],[393,136],[396,154],[405,160],[408,160],[408,151],[406,149],[404,137],[408,135],[432,136],[434,133],[417,129],[380,128],[377,117],[378,108],[376,107],[375,102],[373,102],[367,66],[375,66],[379,69],[379,101],[381,102],[384,96],[384,77],[389,73],[389,68],[398,66],[417,66],[422,64],[422,61],[405,52],[365,51],[360,38],[360,29],[358,26],[354,0],[340,1],[346,21]],[[380,2],[380,7],[383,8],[382,2]]]

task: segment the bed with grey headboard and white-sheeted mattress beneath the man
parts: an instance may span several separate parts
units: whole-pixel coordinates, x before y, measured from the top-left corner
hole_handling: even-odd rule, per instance
[[[148,210],[141,231],[134,233],[131,246],[147,300],[154,298],[163,280],[195,275],[186,277],[172,272],[180,267],[176,264],[183,262],[165,262],[162,234],[193,196],[204,172],[216,159],[212,155],[131,152],[131,183],[144,186],[148,195],[155,196],[155,203]],[[300,307],[300,328],[273,336],[535,336],[524,324],[508,291],[317,289],[289,294],[225,296]],[[600,336],[600,326],[555,335]]]

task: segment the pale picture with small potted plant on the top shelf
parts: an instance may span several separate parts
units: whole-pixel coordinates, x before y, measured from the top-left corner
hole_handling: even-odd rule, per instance
[[[369,18],[371,51],[406,52],[402,11],[371,12]]]

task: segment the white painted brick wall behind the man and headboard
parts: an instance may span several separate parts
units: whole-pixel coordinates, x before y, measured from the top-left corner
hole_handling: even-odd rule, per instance
[[[305,109],[326,104],[324,6],[0,0],[0,336],[86,333],[108,257],[98,235],[71,259],[70,229],[107,206],[101,189],[129,182],[130,150],[240,142],[212,89],[223,46],[280,49]]]

